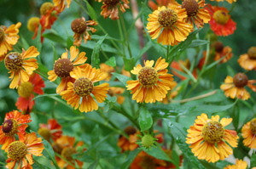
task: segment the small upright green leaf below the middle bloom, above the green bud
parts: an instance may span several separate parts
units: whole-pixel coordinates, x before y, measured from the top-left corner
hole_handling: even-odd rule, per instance
[[[138,121],[142,132],[148,130],[153,125],[152,115],[144,107],[140,109]]]

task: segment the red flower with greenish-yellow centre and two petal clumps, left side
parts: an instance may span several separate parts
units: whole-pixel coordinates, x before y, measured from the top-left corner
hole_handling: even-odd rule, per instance
[[[22,82],[20,87],[18,87],[19,98],[16,102],[16,106],[19,110],[29,113],[32,110],[35,101],[33,93],[44,94],[42,90],[44,87],[44,81],[41,76],[36,73],[33,73],[28,82]]]

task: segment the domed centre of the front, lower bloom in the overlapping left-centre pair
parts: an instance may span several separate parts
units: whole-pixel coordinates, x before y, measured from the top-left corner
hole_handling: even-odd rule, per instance
[[[88,96],[93,90],[93,84],[86,77],[80,77],[73,83],[73,89],[80,97]]]

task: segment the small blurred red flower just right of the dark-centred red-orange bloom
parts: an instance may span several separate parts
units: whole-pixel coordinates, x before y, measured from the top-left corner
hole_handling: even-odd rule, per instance
[[[39,124],[38,134],[40,134],[47,141],[56,141],[61,138],[61,125],[55,119],[49,119],[47,124]]]

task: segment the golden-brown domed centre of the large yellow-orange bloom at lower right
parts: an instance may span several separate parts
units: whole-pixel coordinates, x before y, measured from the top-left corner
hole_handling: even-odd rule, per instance
[[[218,121],[209,121],[202,129],[202,137],[210,144],[217,144],[224,136],[224,127]]]

